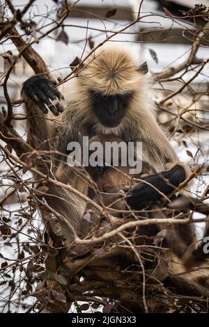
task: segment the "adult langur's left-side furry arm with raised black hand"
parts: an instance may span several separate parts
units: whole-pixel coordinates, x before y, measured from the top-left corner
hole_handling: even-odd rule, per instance
[[[64,184],[70,183],[78,191],[86,193],[86,184],[82,179],[77,178],[66,162],[67,143],[71,137],[71,134],[68,135],[68,129],[65,128],[67,122],[63,121],[61,127],[57,128],[56,121],[51,117],[47,119],[49,117],[45,115],[48,109],[54,115],[62,113],[61,93],[50,79],[34,76],[24,82],[22,97],[26,106],[28,143],[37,150],[37,155],[33,157],[33,166],[41,173],[56,178]],[[47,181],[44,185],[47,191],[43,197],[49,207],[70,222],[75,232],[79,232],[86,202],[62,187]],[[62,220],[59,223],[65,238],[72,241],[73,233],[68,224]]]

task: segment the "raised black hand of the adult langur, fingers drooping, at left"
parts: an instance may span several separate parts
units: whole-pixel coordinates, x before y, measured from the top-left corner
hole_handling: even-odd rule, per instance
[[[49,109],[54,115],[59,115],[64,110],[61,103],[63,95],[46,77],[33,76],[27,79],[22,86],[22,97],[33,101],[43,113],[48,113]]]

